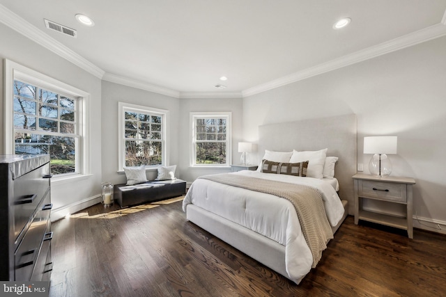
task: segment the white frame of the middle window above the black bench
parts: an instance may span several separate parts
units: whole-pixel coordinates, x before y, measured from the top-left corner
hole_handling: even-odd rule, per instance
[[[162,118],[162,166],[169,166],[169,111],[165,109],[155,109],[148,106],[118,102],[118,172],[124,171],[125,166],[125,111],[135,113],[148,113],[159,115]],[[132,138],[131,138],[132,139]],[[146,170],[155,170],[155,166],[146,166]]]

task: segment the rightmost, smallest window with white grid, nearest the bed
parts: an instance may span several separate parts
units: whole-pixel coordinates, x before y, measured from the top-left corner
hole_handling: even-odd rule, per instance
[[[190,113],[191,166],[229,166],[231,113]]]

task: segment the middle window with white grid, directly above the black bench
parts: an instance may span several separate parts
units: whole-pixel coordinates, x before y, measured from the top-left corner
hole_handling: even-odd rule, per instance
[[[168,111],[119,102],[119,169],[167,166]]]

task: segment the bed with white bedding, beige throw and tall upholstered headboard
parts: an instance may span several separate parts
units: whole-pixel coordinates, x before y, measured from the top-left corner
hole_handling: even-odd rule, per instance
[[[314,255],[314,247],[308,241],[307,229],[312,222],[304,220],[301,224],[295,202],[276,197],[276,189],[290,186],[292,190],[314,190],[314,195],[320,195],[325,211],[323,220],[328,222],[331,235],[321,232],[326,236],[319,240],[328,243],[347,214],[353,213],[351,177],[356,172],[356,118],[341,115],[259,127],[260,159],[267,155],[263,155],[266,151],[317,151],[324,147],[326,156],[339,158],[330,181],[262,170],[201,177],[192,183],[183,200],[187,220],[299,284],[321,255]],[[240,181],[246,188],[236,184]],[[264,188],[257,191],[257,184],[263,182],[268,186],[260,186]]]

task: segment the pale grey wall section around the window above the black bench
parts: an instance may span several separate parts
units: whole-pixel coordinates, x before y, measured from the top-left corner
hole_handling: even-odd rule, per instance
[[[125,174],[118,173],[118,102],[137,104],[169,111],[169,164],[178,163],[178,125],[180,99],[102,81],[102,179],[112,184],[125,184]],[[157,177],[157,170],[148,170],[148,179]],[[176,176],[182,174],[177,168]]]

